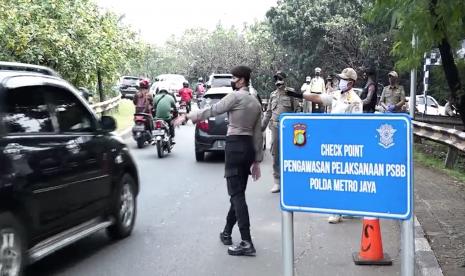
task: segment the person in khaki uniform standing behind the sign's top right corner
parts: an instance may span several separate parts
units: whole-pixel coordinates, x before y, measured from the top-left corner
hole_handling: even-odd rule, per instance
[[[389,85],[384,87],[379,104],[385,112],[402,112],[402,107],[405,104],[404,87],[398,83],[399,75],[397,72],[391,71],[388,76]]]

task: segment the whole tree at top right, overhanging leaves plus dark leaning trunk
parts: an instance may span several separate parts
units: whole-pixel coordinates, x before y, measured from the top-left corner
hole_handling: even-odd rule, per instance
[[[465,123],[465,93],[461,83],[454,49],[465,38],[465,2],[463,0],[376,0],[367,10],[372,20],[393,21],[395,44],[392,52],[400,70],[416,68],[423,54],[438,48],[449,86],[450,97],[458,99],[458,109]],[[412,35],[418,38],[411,46]]]

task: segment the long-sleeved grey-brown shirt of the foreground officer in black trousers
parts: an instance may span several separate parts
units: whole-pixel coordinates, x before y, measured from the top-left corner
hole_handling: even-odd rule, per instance
[[[257,98],[249,92],[248,87],[229,93],[211,107],[192,111],[187,118],[192,122],[206,120],[228,112],[227,135],[252,136],[255,147],[255,161],[263,160],[263,134],[261,130],[262,106]]]

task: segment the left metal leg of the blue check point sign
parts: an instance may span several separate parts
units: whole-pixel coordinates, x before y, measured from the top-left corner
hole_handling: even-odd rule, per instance
[[[281,212],[283,239],[283,275],[294,276],[294,213]]]

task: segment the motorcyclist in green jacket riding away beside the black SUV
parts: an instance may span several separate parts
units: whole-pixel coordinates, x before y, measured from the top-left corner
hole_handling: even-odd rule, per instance
[[[170,128],[170,136],[174,143],[174,127],[171,124],[173,117],[177,117],[176,101],[174,97],[168,93],[168,90],[161,88],[154,99],[153,105],[155,118],[162,119],[168,123]],[[173,112],[172,112],[173,111]]]

